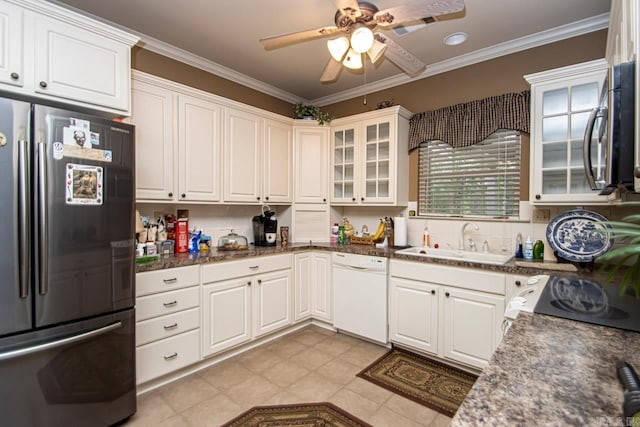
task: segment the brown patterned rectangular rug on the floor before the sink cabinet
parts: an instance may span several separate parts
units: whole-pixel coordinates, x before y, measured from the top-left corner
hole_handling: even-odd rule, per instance
[[[477,376],[435,360],[393,348],[357,376],[449,417]]]

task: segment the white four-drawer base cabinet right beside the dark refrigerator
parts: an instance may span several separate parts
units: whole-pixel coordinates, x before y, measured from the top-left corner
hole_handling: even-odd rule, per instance
[[[200,267],[136,275],[136,382],[200,360]]]

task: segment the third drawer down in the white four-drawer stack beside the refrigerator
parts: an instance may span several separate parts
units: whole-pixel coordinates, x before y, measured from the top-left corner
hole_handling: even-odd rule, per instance
[[[192,308],[136,323],[136,345],[148,344],[200,327],[200,309]]]

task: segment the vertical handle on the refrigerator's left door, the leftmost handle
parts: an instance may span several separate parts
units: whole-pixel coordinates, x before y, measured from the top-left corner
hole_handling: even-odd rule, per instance
[[[27,141],[18,141],[18,182],[19,182],[19,209],[20,209],[20,298],[29,296],[29,241],[31,235],[30,213],[30,179],[29,179],[29,146]]]

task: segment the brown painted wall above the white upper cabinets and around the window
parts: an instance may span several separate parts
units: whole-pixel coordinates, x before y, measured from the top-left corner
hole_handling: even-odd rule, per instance
[[[525,74],[603,58],[606,41],[607,31],[601,30],[371,93],[367,95],[366,106],[363,97],[356,97],[324,106],[322,110],[335,117],[344,117],[372,110],[378,102],[393,99],[396,105],[419,113],[503,93],[520,92],[529,88],[522,77]],[[142,48],[134,48],[132,65],[137,70],[284,116],[292,113],[292,104],[286,101]],[[529,200],[528,135],[525,135],[523,142],[520,198]],[[409,157],[409,199],[417,200],[417,151]]]

